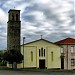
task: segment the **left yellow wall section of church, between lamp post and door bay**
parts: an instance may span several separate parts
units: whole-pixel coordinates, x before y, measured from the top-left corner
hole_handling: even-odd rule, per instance
[[[33,52],[33,58],[31,58],[31,52]],[[23,48],[21,53],[23,54]],[[21,66],[23,67],[23,63]],[[28,67],[36,67],[36,46],[24,46],[24,68]]]

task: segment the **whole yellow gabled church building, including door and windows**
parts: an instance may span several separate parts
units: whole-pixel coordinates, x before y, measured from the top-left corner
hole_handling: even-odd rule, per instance
[[[21,45],[24,61],[18,68],[61,68],[60,47],[45,39]]]

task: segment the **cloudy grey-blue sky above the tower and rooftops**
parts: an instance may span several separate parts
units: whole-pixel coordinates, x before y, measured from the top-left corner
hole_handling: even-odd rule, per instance
[[[55,42],[75,38],[74,0],[0,0],[0,50],[7,48],[7,21],[10,9],[21,10],[21,44],[44,39]]]

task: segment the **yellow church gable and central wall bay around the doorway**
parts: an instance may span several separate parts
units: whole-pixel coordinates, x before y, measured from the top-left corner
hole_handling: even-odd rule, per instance
[[[49,42],[46,42],[46,41],[43,41],[43,40],[40,40],[40,41],[37,41],[37,42],[33,42],[33,43],[29,43],[25,46],[37,46],[37,61],[36,61],[36,68],[39,68],[39,60],[40,59],[45,59],[46,61],[46,53],[47,53],[47,50],[46,50],[46,47],[47,46],[50,46],[50,43]],[[45,57],[39,57],[39,49],[41,49],[41,47],[43,47],[45,49]],[[45,63],[45,67],[47,67],[47,63]]]

